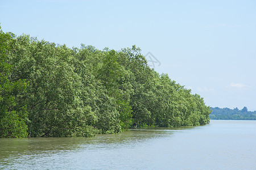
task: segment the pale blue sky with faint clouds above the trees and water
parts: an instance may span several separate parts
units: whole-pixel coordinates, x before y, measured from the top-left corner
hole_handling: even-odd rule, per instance
[[[206,105],[256,111],[254,0],[0,0],[0,23],[69,47],[136,45],[150,67]]]

